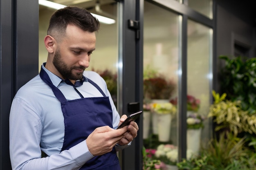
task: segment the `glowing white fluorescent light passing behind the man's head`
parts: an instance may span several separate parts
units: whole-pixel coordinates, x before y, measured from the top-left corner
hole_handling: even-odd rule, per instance
[[[38,3],[40,5],[45,6],[45,7],[53,8],[53,9],[56,9],[56,10],[67,7],[66,5],[58,4],[58,3],[51,2],[51,1],[48,1],[48,0],[38,0]],[[99,22],[102,22],[104,24],[114,24],[116,22],[115,20],[113,20],[111,18],[103,17],[101,15],[97,15],[97,14],[94,14],[94,13],[91,13],[91,14],[92,14],[92,16],[97,18],[99,20]]]

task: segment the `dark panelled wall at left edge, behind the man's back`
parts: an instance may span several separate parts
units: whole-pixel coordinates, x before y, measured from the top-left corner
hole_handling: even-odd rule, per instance
[[[0,0],[0,170],[11,170],[12,99],[17,90],[37,74],[38,1]]]

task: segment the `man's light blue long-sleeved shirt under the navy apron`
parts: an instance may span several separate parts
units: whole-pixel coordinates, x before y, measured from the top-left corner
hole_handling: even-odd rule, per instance
[[[67,100],[81,98],[73,86],[67,85],[44,66],[42,68]],[[95,82],[109,97],[113,112],[112,124],[116,129],[120,116],[106,82],[93,71],[84,71],[83,75]],[[83,97],[102,97],[97,88],[86,80],[82,86],[76,88]],[[13,170],[78,170],[93,157],[87,148],[86,140],[61,152],[65,130],[61,104],[39,75],[16,93],[11,105],[9,124]],[[118,147],[117,150],[120,150],[126,146]],[[41,150],[49,157],[41,158]]]

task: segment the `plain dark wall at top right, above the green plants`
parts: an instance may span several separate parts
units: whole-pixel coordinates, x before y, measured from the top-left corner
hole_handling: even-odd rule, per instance
[[[224,61],[220,55],[255,57],[256,1],[216,0],[216,71]],[[218,78],[214,82],[219,89]]]

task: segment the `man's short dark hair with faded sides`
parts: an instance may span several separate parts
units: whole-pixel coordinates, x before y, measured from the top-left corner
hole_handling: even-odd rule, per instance
[[[65,7],[53,13],[47,35],[63,36],[67,25],[78,26],[80,29],[91,33],[98,31],[100,27],[99,21],[89,11],[79,7]]]

